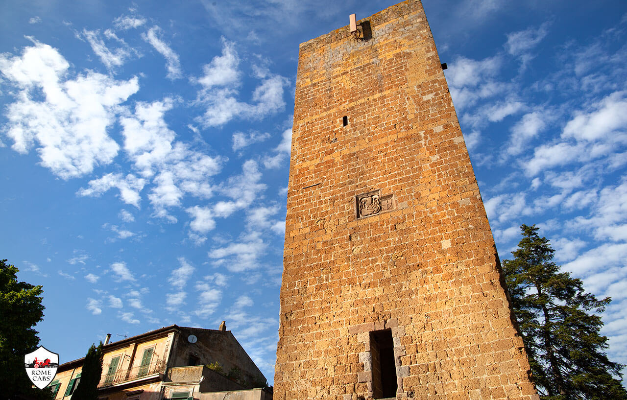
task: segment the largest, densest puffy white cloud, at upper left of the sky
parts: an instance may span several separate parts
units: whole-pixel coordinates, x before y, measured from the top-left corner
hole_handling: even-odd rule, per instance
[[[63,179],[113,161],[119,145],[107,128],[120,103],[139,90],[136,77],[117,81],[93,71],[64,81],[69,66],[56,49],[37,41],[22,56],[0,55],[0,71],[19,90],[6,108],[13,149],[25,154],[37,144],[41,165]]]

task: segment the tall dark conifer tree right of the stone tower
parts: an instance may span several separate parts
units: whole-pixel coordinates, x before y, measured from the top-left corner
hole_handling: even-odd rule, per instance
[[[608,338],[599,334],[611,299],[597,300],[581,280],[561,272],[554,250],[535,225],[520,226],[522,240],[503,273],[520,333],[529,356],[532,380],[545,400],[627,399],[623,365],[609,361]]]

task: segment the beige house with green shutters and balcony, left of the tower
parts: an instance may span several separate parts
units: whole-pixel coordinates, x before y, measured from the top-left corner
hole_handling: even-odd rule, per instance
[[[271,400],[266,378],[231,331],[171,325],[103,347],[101,400]],[[58,368],[50,388],[70,399],[84,359]]]

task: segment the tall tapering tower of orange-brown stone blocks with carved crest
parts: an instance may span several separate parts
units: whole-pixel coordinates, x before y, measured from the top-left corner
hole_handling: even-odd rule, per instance
[[[300,45],[275,400],[537,399],[418,0]]]

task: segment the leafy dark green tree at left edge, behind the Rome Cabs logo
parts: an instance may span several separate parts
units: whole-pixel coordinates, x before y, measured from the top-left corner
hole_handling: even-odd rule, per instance
[[[50,399],[50,391],[33,387],[24,370],[24,355],[39,346],[33,327],[43,320],[43,290],[18,282],[18,268],[6,261],[0,260],[0,399]]]

